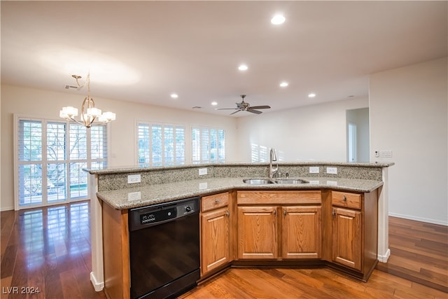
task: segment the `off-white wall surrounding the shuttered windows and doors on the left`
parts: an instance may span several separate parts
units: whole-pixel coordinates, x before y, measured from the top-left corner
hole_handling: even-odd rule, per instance
[[[60,120],[62,106],[80,109],[85,95],[50,92],[10,85],[1,85],[1,201],[0,209],[13,209],[13,115],[34,116]],[[226,131],[226,156],[229,161],[237,155],[236,120],[228,116],[216,116],[196,111],[168,109],[131,102],[94,97],[100,109],[116,112],[117,120],[110,123],[109,166],[135,165],[137,120],[160,121],[186,125],[223,127]]]

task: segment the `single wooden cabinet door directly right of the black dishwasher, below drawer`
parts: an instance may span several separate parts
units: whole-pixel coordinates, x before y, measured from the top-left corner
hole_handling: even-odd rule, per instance
[[[230,212],[227,207],[201,216],[201,273],[230,262]]]

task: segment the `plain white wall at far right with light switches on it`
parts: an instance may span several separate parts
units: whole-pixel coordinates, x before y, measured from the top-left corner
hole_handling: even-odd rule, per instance
[[[370,76],[371,160],[389,169],[389,214],[448,225],[447,58]],[[374,158],[391,150],[392,158]]]

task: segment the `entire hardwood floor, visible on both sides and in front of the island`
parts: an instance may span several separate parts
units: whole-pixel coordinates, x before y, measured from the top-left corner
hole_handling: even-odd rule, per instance
[[[106,298],[90,284],[89,215],[88,202],[2,211],[1,298]],[[181,298],[448,298],[448,228],[389,219],[391,258],[367,283],[326,268],[232,268]]]

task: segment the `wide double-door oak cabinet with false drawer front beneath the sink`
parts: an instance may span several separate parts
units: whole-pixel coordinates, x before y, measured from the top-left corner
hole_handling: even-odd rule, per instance
[[[237,204],[239,259],[320,258],[320,191],[239,191]]]

